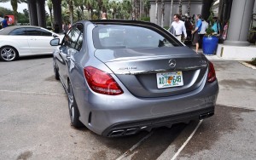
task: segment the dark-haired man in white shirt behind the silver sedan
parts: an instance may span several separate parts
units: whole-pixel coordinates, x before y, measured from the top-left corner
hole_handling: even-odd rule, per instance
[[[174,14],[173,16],[173,22],[171,25],[171,28],[173,30],[172,34],[177,37],[179,41],[181,41],[182,34],[184,34],[184,38],[187,38],[187,31],[185,24],[182,20],[180,20],[179,14]]]

